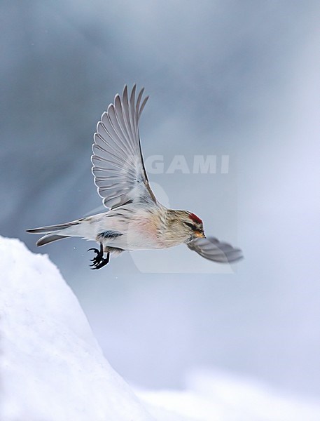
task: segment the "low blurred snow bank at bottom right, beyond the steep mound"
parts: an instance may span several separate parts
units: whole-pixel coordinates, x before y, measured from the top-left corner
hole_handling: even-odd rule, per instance
[[[154,408],[199,421],[319,421],[320,403],[219,370],[195,370],[185,391],[138,392]],[[160,413],[160,412],[159,412]],[[165,418],[158,418],[164,420]]]

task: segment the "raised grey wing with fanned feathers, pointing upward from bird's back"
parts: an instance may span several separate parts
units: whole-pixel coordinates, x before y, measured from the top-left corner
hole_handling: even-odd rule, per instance
[[[125,203],[156,203],[148,183],[139,139],[139,118],[148,97],[142,100],[141,89],[137,102],[136,86],[130,99],[127,86],[123,96],[116,95],[97,124],[92,145],[92,173],[104,206],[117,208]],[[142,100],[142,101],[141,101]]]

